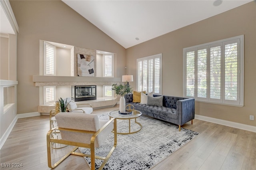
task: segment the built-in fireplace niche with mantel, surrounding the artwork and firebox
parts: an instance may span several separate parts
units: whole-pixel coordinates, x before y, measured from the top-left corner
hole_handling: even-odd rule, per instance
[[[46,76],[44,74],[45,42],[53,45],[55,48],[54,77]],[[78,76],[77,54],[86,54],[95,57],[94,77]],[[56,86],[56,100],[60,97],[71,97],[71,85],[97,85],[97,98],[103,97],[103,85],[112,85],[120,82],[120,78],[103,77],[103,54],[110,54],[110,52],[40,40],[40,80],[34,80],[34,78],[38,76],[35,75],[35,77],[33,77],[33,81],[36,86]],[[43,90],[41,90],[40,93],[41,96],[43,96]],[[41,104],[42,101],[44,100],[41,100]]]

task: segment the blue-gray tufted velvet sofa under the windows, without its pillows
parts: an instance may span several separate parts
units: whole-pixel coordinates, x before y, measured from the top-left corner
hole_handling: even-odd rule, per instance
[[[154,97],[161,95],[153,95]],[[150,106],[146,104],[133,103],[132,94],[124,96],[126,105],[134,105],[134,109],[141,111],[142,115],[148,115],[156,119],[174,123],[180,126],[188,121],[193,124],[195,118],[195,99],[184,97],[163,96],[163,106]]]

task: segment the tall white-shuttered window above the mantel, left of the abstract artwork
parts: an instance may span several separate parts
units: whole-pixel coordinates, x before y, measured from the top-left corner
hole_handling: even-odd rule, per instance
[[[44,42],[44,75],[55,75],[55,47]]]

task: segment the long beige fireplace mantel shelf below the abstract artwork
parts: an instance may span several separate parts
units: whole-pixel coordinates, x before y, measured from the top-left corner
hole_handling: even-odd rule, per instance
[[[79,77],[79,76],[48,76],[33,75],[36,87],[66,85],[113,85],[120,83],[120,77]]]

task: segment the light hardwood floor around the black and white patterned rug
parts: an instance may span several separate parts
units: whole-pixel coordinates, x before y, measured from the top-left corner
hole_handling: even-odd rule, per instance
[[[94,110],[104,114],[118,109]],[[42,115],[18,119],[8,139],[0,150],[0,169],[48,170],[46,155],[46,133],[49,116]],[[193,140],[168,156],[152,170],[255,170],[256,133],[226,127],[206,121],[194,120],[182,126],[199,132]],[[54,150],[61,156],[69,147]],[[7,168],[7,163],[22,163],[22,168]],[[71,155],[55,170],[89,170],[82,156]]]

